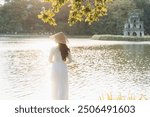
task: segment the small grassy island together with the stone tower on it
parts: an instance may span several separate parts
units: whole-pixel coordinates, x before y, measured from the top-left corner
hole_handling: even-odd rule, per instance
[[[144,34],[144,22],[140,20],[141,10],[136,9],[128,14],[124,24],[123,35],[94,35],[92,39],[115,41],[150,41]]]

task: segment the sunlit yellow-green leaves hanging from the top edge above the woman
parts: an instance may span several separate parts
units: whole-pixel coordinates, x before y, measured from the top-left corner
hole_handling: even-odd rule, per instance
[[[45,23],[56,25],[55,15],[67,5],[70,8],[68,23],[70,26],[77,22],[91,24],[98,21],[99,17],[106,15],[107,3],[112,0],[44,0],[51,4],[49,9],[43,9],[38,17]]]

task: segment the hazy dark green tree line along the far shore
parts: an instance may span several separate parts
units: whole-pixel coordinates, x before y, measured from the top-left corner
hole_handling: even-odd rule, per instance
[[[37,15],[48,3],[40,0],[5,0],[0,6],[0,34],[50,34],[63,31],[68,35],[93,35],[123,33],[128,13],[141,9],[141,20],[144,21],[145,34],[150,34],[150,1],[149,0],[113,0],[108,4],[108,14],[91,25],[81,22],[73,26],[67,23],[69,8],[64,6],[56,15],[57,26],[44,24]]]

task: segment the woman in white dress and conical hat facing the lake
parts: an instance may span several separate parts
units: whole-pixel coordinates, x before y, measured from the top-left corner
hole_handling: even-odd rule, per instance
[[[59,32],[50,36],[58,44],[50,51],[51,65],[51,96],[55,100],[68,99],[68,72],[66,63],[72,61],[70,49],[67,47],[67,38]]]

